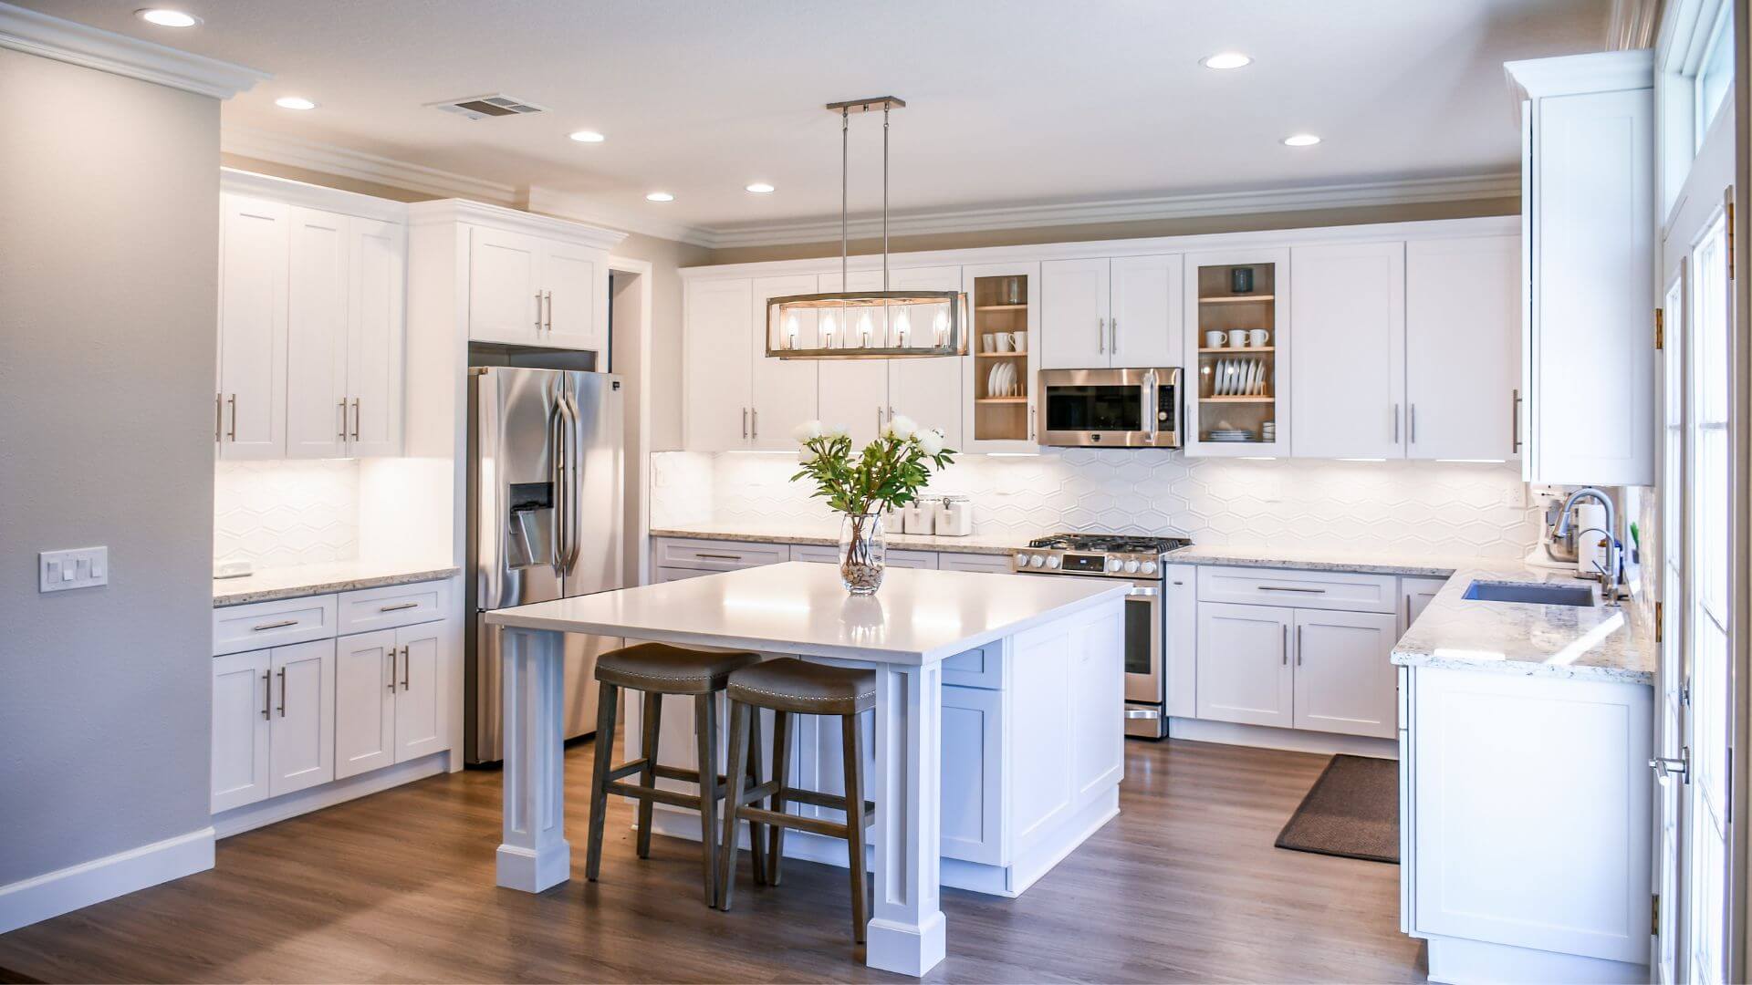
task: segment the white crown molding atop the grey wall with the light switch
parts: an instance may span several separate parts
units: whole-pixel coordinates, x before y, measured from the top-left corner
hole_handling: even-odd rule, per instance
[[[228,100],[256,82],[273,77],[230,61],[63,21],[12,4],[0,4],[0,47],[215,100]]]

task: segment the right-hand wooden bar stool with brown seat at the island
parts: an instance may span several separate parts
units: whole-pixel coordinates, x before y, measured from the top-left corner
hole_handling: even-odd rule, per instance
[[[731,673],[725,691],[731,701],[731,761],[759,754],[760,708],[773,710],[773,778],[766,783],[753,776],[750,787],[741,776],[731,780],[724,801],[724,847],[718,859],[718,908],[731,908],[731,890],[736,889],[736,822],[750,826],[750,845],[755,847],[755,873],[760,873],[759,826],[773,829],[766,850],[766,882],[778,885],[780,855],[785,852],[785,829],[811,831],[829,838],[844,838],[846,862],[851,869],[851,938],[864,943],[869,924],[869,892],[864,878],[864,829],[876,820],[876,804],[864,799],[864,733],[858,729],[858,712],[876,706],[876,671],[811,664],[797,657],[778,657]],[[790,776],[792,715],[837,715],[844,745],[846,796],[836,797],[818,790],[787,787]],[[762,797],[773,797],[771,810],[750,806]],[[785,803],[815,804],[846,811],[844,824],[785,813]]]

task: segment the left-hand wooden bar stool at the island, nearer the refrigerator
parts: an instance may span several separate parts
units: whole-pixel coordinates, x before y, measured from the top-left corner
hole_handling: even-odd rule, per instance
[[[725,689],[732,671],[757,663],[759,654],[727,650],[689,650],[668,643],[639,643],[610,650],[596,661],[596,680],[601,696],[596,706],[596,771],[590,776],[590,843],[585,854],[583,875],[596,882],[603,866],[603,815],[608,794],[634,797],[639,803],[638,852],[641,859],[652,854],[652,806],[657,803],[699,811],[701,861],[704,868],[706,906],[718,901],[718,797],[729,785],[717,771],[718,762],[718,692]],[[639,759],[611,766],[615,755],[615,719],[620,708],[620,691],[645,694],[645,738]],[[699,741],[699,769],[680,769],[657,762],[657,727],[662,720],[664,694],[690,694],[694,698],[694,729]],[[757,726],[759,727],[759,726]],[[748,752],[738,752],[725,764],[725,773],[741,775],[745,764],[759,782],[759,738]],[[638,783],[622,776],[638,773]],[[657,787],[657,780],[697,783],[699,794],[683,794]],[[738,787],[741,783],[736,783]],[[755,854],[755,864],[764,862],[764,852]]]

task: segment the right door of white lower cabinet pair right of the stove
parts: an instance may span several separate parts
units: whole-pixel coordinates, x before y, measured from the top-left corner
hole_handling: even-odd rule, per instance
[[[1384,612],[1296,610],[1295,727],[1396,738],[1398,678],[1388,657],[1398,619]]]

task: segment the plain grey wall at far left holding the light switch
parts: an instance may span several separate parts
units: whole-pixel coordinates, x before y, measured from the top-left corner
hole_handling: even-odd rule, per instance
[[[5,885],[210,822],[219,102],[16,51],[0,93]]]

